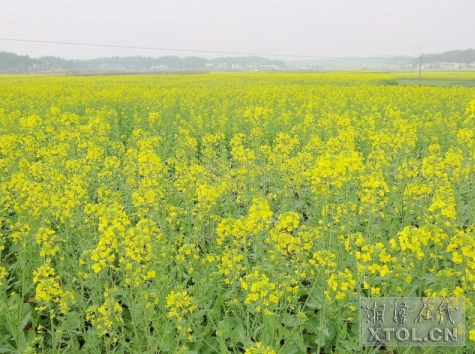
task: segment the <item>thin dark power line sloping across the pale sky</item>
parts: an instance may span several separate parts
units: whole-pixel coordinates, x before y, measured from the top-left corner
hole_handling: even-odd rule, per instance
[[[0,38],[2,41],[11,42],[27,42],[27,43],[45,43],[45,44],[63,44],[63,45],[78,45],[88,47],[102,47],[102,48],[122,48],[122,49],[145,49],[145,50],[161,50],[173,52],[192,52],[192,53],[209,53],[209,54],[232,54],[232,55],[253,55],[253,56],[269,56],[269,57],[288,57],[288,58],[313,58],[313,59],[377,59],[377,60],[401,60],[408,58],[381,58],[381,57],[328,57],[318,55],[292,55],[292,54],[273,54],[273,53],[249,53],[249,52],[227,52],[215,50],[197,50],[197,49],[175,49],[162,47],[141,47],[115,44],[95,44],[95,43],[79,43],[79,42],[60,42],[60,41],[46,41],[34,39],[19,39],[19,38]]]

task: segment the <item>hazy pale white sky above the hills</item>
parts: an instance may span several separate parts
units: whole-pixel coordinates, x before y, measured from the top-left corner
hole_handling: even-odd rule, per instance
[[[412,56],[475,48],[475,0],[0,0],[0,37],[288,55]],[[69,59],[222,56],[3,40],[0,51]]]

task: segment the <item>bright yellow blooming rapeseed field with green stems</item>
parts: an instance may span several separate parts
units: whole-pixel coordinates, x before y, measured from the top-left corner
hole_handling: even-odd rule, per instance
[[[2,76],[0,352],[374,353],[359,297],[455,296],[473,353],[474,135],[391,74]]]

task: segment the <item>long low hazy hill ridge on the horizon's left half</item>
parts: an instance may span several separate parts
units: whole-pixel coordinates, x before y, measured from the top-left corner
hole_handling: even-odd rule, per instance
[[[32,66],[42,66],[53,69],[94,70],[94,71],[143,71],[155,69],[184,69],[208,70],[243,68],[245,66],[285,66],[283,61],[271,60],[257,56],[252,57],[223,57],[206,59],[201,57],[180,58],[177,56],[152,57],[110,57],[91,60],[65,60],[46,56],[38,59],[20,56],[14,53],[0,52],[0,71],[28,72]]]

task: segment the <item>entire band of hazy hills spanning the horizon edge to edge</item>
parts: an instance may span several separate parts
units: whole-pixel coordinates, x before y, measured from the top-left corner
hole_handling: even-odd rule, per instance
[[[452,50],[442,54],[422,54],[423,64],[431,63],[463,63],[475,62],[475,49]],[[286,65],[287,64],[287,65]],[[69,71],[96,71],[96,72],[122,72],[122,71],[149,71],[149,70],[230,70],[230,69],[271,69],[271,68],[362,68],[362,67],[403,67],[411,64],[417,67],[419,58],[407,56],[374,58],[333,58],[333,59],[295,59],[271,60],[267,58],[251,57],[222,57],[206,59],[201,57],[163,56],[152,57],[109,57],[91,60],[65,60],[58,57],[45,56],[30,58],[14,53],[0,52],[0,72],[28,72],[36,67],[37,71],[53,71],[66,69]]]

